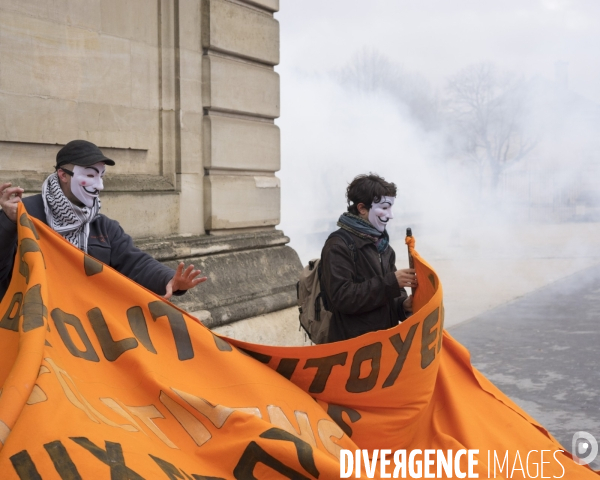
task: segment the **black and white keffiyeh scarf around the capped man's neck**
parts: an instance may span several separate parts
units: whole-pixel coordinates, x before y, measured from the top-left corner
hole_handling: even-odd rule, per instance
[[[100,199],[97,199],[92,207],[78,207],[72,204],[60,188],[56,172],[44,181],[42,198],[46,221],[52,230],[87,253],[90,222],[100,211]]]

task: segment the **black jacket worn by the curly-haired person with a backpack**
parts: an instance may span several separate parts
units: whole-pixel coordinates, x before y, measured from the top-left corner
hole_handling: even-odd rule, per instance
[[[392,247],[379,255],[372,241],[352,238],[356,261],[346,241],[337,235],[327,239],[321,253],[321,289],[333,313],[328,342],[391,328],[406,318],[402,302],[407,293],[394,274]]]

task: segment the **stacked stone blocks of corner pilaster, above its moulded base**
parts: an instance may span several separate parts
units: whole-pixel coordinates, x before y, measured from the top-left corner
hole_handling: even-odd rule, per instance
[[[204,4],[204,219],[211,233],[279,223],[277,3]]]

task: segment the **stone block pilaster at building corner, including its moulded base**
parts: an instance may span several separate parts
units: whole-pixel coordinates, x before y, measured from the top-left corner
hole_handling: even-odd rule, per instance
[[[278,7],[278,0],[202,2],[203,208],[210,235],[187,244],[209,282],[178,303],[210,311],[211,326],[295,303],[301,265],[274,228],[280,219]]]

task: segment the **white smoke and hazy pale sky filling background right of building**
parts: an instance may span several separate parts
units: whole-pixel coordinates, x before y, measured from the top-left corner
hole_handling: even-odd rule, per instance
[[[398,267],[410,226],[441,276],[449,324],[600,261],[598,13],[600,3],[583,0],[282,5],[280,228],[302,261],[320,255],[348,183],[370,171],[398,185],[388,227]],[[481,61],[524,78],[534,110],[523,128],[538,145],[505,170],[497,194],[480,191],[474,170],[449,158],[443,130],[416,120],[410,97],[341,81],[365,48],[422,95],[443,97],[450,76]],[[557,60],[568,62],[563,85]]]

